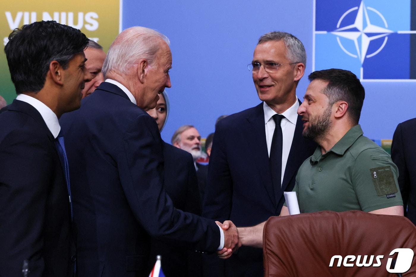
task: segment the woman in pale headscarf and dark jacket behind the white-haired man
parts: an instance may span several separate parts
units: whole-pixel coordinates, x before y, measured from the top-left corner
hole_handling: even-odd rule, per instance
[[[159,131],[169,115],[169,99],[166,91],[159,94],[156,107],[147,113],[156,120]],[[198,191],[196,170],[192,155],[182,149],[163,143],[164,188],[172,199],[173,206],[184,212],[201,215],[201,200]],[[162,270],[166,276],[201,276],[201,254],[171,246],[161,240],[151,239],[150,257],[161,255]],[[151,264],[154,260],[150,261]]]

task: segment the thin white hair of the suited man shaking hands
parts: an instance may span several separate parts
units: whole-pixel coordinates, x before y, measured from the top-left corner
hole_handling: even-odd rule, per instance
[[[111,44],[102,72],[109,71],[126,74],[139,59],[147,59],[151,65],[160,48],[159,39],[169,45],[169,39],[156,30],[146,27],[131,27],[121,32]]]

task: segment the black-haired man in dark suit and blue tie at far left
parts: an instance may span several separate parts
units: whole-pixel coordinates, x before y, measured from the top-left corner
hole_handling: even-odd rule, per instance
[[[90,80],[87,44],[79,30],[54,21],[9,36],[5,53],[17,98],[0,113],[0,276],[74,276],[58,119],[81,104]]]

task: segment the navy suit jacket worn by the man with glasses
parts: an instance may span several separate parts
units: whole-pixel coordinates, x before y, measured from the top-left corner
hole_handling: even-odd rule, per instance
[[[316,143],[302,137],[302,130],[303,122],[298,116],[282,192],[292,191],[299,166],[316,148]],[[203,216],[220,222],[229,219],[237,226],[252,226],[279,215],[284,202],[283,193],[275,195],[272,185],[263,103],[218,122],[208,166]],[[233,256],[229,259],[231,262],[239,258],[246,266],[255,261],[262,268],[261,250],[241,247]]]

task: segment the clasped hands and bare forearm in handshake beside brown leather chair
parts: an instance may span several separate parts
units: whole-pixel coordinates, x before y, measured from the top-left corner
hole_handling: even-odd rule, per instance
[[[224,231],[224,248],[217,252],[218,257],[227,259],[238,251],[241,245],[262,248],[265,222],[253,227],[237,228],[230,220],[224,223],[215,221]]]

